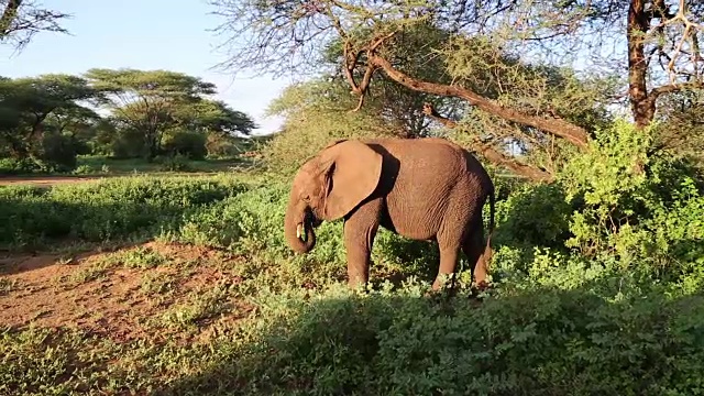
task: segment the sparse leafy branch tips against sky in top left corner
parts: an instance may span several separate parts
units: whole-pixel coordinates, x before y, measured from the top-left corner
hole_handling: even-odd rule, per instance
[[[0,0],[0,43],[24,47],[38,32],[67,31],[59,22],[68,14],[40,7],[32,0]]]

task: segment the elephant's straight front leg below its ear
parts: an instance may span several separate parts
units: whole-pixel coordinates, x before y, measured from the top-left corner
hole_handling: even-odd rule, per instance
[[[374,237],[378,230],[381,198],[366,202],[344,221],[344,248],[348,256],[348,284],[351,288],[366,286]]]

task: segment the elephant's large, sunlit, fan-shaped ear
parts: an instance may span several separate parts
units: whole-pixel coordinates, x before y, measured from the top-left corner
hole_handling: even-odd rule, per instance
[[[366,144],[348,140],[320,153],[327,191],[323,213],[337,220],[369,197],[382,175],[382,155]]]

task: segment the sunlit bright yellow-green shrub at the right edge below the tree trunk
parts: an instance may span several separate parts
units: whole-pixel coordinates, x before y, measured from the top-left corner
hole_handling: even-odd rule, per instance
[[[702,257],[696,246],[704,242],[704,196],[694,170],[650,154],[651,142],[650,130],[617,122],[570,163],[561,183],[568,199],[584,204],[572,216],[565,244],[586,256],[614,256],[623,268],[669,266],[657,276],[675,276],[681,263]],[[685,249],[671,249],[683,243]]]

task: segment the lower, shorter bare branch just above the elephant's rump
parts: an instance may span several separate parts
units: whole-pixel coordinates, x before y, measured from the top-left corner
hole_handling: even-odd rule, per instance
[[[458,127],[458,123],[455,121],[440,116],[430,103],[424,105],[422,112],[430,119],[440,122],[447,128],[452,129]],[[479,139],[473,139],[472,143],[470,143],[470,147],[472,151],[480,153],[491,163],[498,166],[504,166],[510,169],[516,175],[527,177],[534,182],[552,182],[554,179],[554,176],[552,174],[513,160],[507,155],[494,150],[488,144],[482,143]]]

